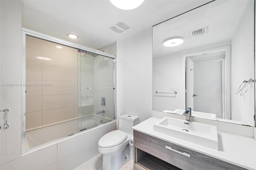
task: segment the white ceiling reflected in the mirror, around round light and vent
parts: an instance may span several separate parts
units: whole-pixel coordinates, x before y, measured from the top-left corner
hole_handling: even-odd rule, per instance
[[[246,0],[217,0],[154,26],[153,56],[231,41],[246,4]],[[206,26],[208,34],[190,37],[190,31]],[[184,43],[175,47],[164,47],[164,41],[174,37],[181,37]]]

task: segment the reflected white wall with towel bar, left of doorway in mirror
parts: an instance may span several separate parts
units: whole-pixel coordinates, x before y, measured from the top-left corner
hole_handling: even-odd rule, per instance
[[[182,91],[182,54],[174,53],[163,57],[153,58],[153,95],[154,111],[174,111],[185,109],[185,96]],[[158,92],[170,92],[174,87],[177,94],[163,94]]]

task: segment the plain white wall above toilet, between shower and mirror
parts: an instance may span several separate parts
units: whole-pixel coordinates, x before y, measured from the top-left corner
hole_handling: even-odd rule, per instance
[[[152,29],[117,43],[117,115],[152,116]]]

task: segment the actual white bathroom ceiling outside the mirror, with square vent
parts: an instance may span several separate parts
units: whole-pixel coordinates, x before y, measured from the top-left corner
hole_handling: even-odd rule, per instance
[[[22,0],[22,27],[99,49],[210,0],[145,0],[134,10],[120,10],[109,0]],[[124,21],[130,29],[109,29]],[[79,36],[72,40],[66,36]],[[143,40],[142,40],[143,41]]]

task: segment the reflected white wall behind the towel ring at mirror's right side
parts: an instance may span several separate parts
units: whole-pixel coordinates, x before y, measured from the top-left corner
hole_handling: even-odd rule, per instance
[[[244,14],[232,39],[231,53],[231,113],[232,120],[254,126],[254,83],[244,97],[236,95],[236,90],[244,80],[254,79],[254,1],[249,0]],[[250,13],[250,14],[248,14]],[[238,69],[239,67],[239,69]],[[241,119],[240,115],[244,117]]]

